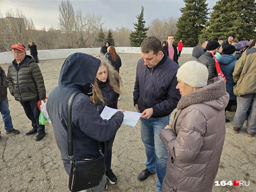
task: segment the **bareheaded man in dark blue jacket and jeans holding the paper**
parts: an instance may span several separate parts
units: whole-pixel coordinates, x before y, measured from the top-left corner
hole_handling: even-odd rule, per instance
[[[176,73],[180,66],[167,56],[161,41],[154,36],[145,38],[140,48],[142,59],[137,64],[133,103],[142,113],[140,129],[147,161],[146,169],[140,172],[138,179],[146,180],[156,172],[157,191],[161,192],[168,152],[159,134],[169,124],[171,112],[181,98],[176,89]]]

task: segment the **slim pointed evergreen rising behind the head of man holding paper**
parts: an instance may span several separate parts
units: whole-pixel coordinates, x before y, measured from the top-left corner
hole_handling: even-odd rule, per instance
[[[135,31],[130,33],[130,46],[131,47],[140,47],[143,39],[147,37],[148,27],[145,27],[146,21],[144,21],[144,7],[141,7],[141,12],[136,16],[138,23],[133,23]]]

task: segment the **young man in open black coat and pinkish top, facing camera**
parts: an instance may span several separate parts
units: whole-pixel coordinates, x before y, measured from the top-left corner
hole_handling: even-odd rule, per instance
[[[174,62],[178,63],[178,50],[177,47],[173,44],[175,40],[174,34],[168,35],[166,37],[167,44],[163,47],[168,57],[170,57]]]

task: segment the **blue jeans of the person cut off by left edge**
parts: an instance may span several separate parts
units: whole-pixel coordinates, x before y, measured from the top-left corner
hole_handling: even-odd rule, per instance
[[[0,101],[0,112],[2,115],[2,119],[4,121],[4,129],[5,131],[9,132],[13,129],[12,126],[12,117],[10,115],[10,110],[9,110],[9,103],[8,103],[8,98],[6,98],[4,101]],[[1,135],[1,131],[0,131]]]

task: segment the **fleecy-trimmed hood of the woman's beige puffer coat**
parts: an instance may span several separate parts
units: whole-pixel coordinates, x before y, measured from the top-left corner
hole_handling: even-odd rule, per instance
[[[205,87],[182,96],[177,108],[183,109],[190,105],[204,103],[216,108],[217,110],[223,110],[228,104],[226,96],[229,95],[226,92],[226,83],[224,78],[215,77],[208,80],[208,85]]]

